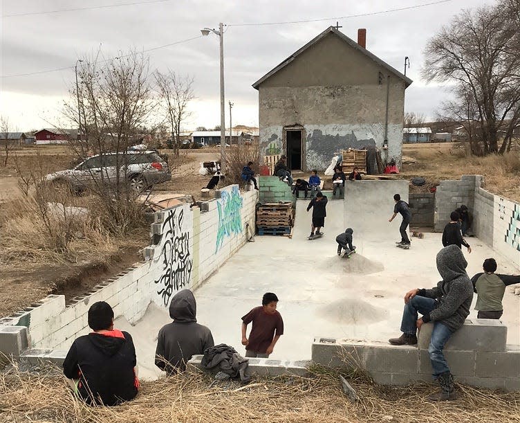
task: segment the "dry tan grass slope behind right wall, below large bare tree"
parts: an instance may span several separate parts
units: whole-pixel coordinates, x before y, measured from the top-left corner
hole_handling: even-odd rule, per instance
[[[520,201],[520,152],[472,156],[461,143],[405,144],[401,177],[425,177],[427,187],[445,179],[460,179],[463,174],[481,174],[484,188],[490,192]]]

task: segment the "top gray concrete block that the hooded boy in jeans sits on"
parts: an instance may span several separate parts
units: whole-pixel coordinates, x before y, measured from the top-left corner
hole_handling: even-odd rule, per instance
[[[423,325],[418,348],[427,350],[433,323]],[[501,321],[487,318],[466,319],[463,327],[448,339],[445,350],[505,351],[508,327]]]

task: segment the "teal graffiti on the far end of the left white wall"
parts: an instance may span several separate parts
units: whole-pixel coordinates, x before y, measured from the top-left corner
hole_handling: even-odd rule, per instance
[[[221,248],[224,237],[242,232],[242,197],[239,187],[233,186],[231,192],[222,191],[221,195],[216,203],[219,210],[219,230],[216,233],[215,253]]]

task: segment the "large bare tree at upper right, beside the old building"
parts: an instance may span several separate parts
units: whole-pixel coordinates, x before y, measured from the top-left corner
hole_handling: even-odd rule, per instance
[[[456,100],[445,107],[471,134],[475,154],[509,150],[520,122],[519,8],[520,0],[502,0],[465,10],[425,50],[423,75],[454,82]]]

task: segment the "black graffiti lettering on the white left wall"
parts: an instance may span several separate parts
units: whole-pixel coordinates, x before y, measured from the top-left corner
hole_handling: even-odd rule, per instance
[[[189,285],[192,274],[193,259],[189,253],[189,233],[183,232],[183,208],[169,211],[163,222],[163,247],[158,260],[163,260],[163,270],[158,280],[157,294],[168,306],[174,291]]]

